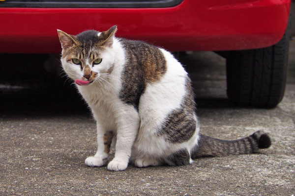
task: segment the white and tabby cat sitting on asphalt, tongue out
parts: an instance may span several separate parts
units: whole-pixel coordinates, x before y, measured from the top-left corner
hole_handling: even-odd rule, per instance
[[[89,167],[108,170],[181,166],[202,156],[258,153],[271,145],[263,131],[233,141],[199,133],[196,104],[188,73],[165,49],[115,37],[107,31],[76,36],[58,30],[61,64],[77,84],[97,125],[97,151]]]

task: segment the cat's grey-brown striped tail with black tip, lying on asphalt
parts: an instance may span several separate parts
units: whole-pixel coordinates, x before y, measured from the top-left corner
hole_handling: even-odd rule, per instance
[[[260,148],[268,148],[270,145],[271,140],[263,131],[256,131],[248,137],[232,141],[219,140],[200,134],[198,145],[191,151],[191,158],[258,153]]]

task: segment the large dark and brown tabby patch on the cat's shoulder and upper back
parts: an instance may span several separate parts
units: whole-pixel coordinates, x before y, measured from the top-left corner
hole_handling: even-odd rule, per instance
[[[160,80],[166,73],[166,60],[160,49],[147,43],[125,39],[120,39],[120,43],[125,50],[126,63],[119,98],[138,110],[147,84]]]

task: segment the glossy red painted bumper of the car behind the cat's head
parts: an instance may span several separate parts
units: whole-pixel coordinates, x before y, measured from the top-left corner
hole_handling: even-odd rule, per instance
[[[0,8],[0,52],[60,52],[57,29],[118,25],[117,37],[169,50],[262,48],[283,36],[290,0],[184,0],[171,8]]]

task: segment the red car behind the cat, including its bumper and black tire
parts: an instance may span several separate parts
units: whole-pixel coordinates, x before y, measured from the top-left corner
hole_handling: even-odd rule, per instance
[[[216,51],[227,58],[231,100],[274,107],[286,84],[290,6],[291,0],[2,0],[0,52],[59,53],[57,29],[78,34],[118,25],[118,37],[171,51]]]

